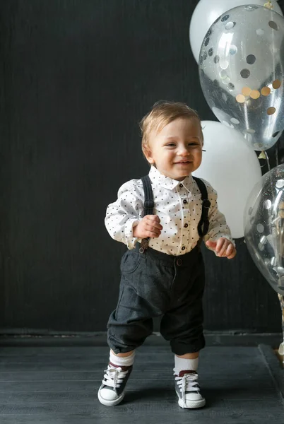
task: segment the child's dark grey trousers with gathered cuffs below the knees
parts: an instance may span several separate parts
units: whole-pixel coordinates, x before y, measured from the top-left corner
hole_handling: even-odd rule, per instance
[[[205,346],[203,336],[204,264],[199,247],[179,257],[154,249],[136,249],[122,257],[117,309],[107,324],[114,353],[141,346],[153,332],[153,317],[162,316],[160,332],[177,355]]]

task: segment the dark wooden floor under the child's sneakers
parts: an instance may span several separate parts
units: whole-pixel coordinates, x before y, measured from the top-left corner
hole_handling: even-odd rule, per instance
[[[177,405],[173,355],[163,346],[138,350],[121,405],[100,405],[107,353],[106,347],[1,347],[0,423],[284,423],[284,370],[268,346],[204,349],[199,375],[207,404],[200,410]]]

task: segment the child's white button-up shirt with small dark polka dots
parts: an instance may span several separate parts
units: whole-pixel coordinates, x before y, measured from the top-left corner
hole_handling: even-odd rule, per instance
[[[165,177],[155,168],[149,172],[154,196],[154,214],[160,218],[162,233],[150,238],[149,247],[174,256],[190,252],[199,241],[197,225],[201,218],[201,193],[189,175],[182,182]],[[211,201],[208,219],[209,229],[204,241],[216,241],[226,237],[232,241],[225,216],[218,210],[217,193],[206,184]],[[141,239],[134,237],[133,228],[143,218],[144,190],[141,179],[131,179],[120,187],[118,199],[107,206],[105,226],[114,240],[123,242],[133,249]]]

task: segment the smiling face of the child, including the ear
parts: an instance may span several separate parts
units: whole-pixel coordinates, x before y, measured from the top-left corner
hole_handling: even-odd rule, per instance
[[[146,158],[162,175],[182,181],[201,164],[202,140],[198,119],[174,119],[150,134]]]

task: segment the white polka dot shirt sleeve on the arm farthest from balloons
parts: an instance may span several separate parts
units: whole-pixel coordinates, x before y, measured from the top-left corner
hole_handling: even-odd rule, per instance
[[[133,235],[143,215],[143,199],[138,187],[139,180],[131,180],[120,187],[117,201],[107,206],[105,226],[110,236],[133,249],[139,240]],[[136,182],[136,183],[135,183]]]

